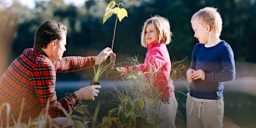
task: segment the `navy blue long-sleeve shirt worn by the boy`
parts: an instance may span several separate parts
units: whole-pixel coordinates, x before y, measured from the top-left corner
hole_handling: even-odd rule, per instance
[[[224,82],[235,78],[234,53],[230,45],[221,41],[213,47],[197,43],[192,53],[190,68],[203,70],[205,80],[193,80],[190,95],[199,99],[223,99]]]

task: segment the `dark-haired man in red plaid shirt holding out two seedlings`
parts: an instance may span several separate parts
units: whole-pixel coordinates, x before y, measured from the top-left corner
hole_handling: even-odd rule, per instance
[[[70,96],[57,101],[56,72],[78,71],[99,65],[112,53],[112,50],[107,47],[97,56],[62,58],[63,52],[66,51],[66,37],[66,26],[50,19],[46,20],[35,33],[34,48],[24,50],[0,78],[0,105],[4,102],[11,105],[10,115],[16,122],[23,99],[21,122],[27,124],[29,117],[32,119],[38,117],[40,112],[46,109],[47,100],[49,100],[48,114],[56,124],[62,126],[63,122],[60,122],[62,119],[56,118],[63,115],[61,107],[71,112],[78,101],[94,100],[95,96],[98,96],[97,88],[101,86],[91,85],[80,88]],[[12,118],[7,117],[6,111],[6,109],[2,110],[0,122],[3,122],[3,126],[14,125]]]

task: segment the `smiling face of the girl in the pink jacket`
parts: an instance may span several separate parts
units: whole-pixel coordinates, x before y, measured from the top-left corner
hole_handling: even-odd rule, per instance
[[[152,23],[147,24],[147,27],[145,29],[145,38],[147,44],[157,41],[158,39],[157,30]]]

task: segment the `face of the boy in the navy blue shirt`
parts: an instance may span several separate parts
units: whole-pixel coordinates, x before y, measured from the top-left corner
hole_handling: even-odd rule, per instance
[[[194,37],[199,41],[199,43],[206,44],[208,43],[208,31],[206,26],[200,23],[198,18],[191,21],[191,26],[195,32]]]

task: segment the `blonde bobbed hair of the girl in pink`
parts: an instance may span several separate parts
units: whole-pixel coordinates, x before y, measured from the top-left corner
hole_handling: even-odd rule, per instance
[[[142,28],[141,32],[141,45],[143,47],[147,46],[146,38],[145,38],[145,31],[148,24],[152,23],[153,26],[156,28],[158,33],[158,42],[160,41],[164,42],[165,45],[168,45],[171,42],[171,36],[173,36],[173,33],[171,33],[171,27],[170,22],[165,17],[161,16],[154,16],[149,19],[147,19],[144,22],[144,26]]]

